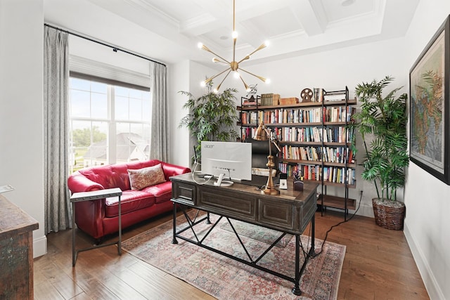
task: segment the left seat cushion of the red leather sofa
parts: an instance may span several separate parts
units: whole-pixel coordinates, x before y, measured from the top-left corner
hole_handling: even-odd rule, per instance
[[[155,196],[141,190],[124,190],[120,197],[122,214],[150,207],[155,204]],[[119,197],[110,197],[105,200],[105,216],[119,215]]]

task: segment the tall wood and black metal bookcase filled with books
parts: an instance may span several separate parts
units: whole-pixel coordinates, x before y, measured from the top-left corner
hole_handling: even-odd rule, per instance
[[[257,98],[259,99],[259,98]],[[355,209],[348,189],[356,187],[356,162],[352,151],[354,132],[348,128],[355,112],[356,99],[349,99],[347,87],[342,91],[321,90],[316,102],[288,105],[249,104],[242,98],[240,131],[243,140],[252,138],[260,122],[278,139],[282,152],[279,171],[292,176],[302,174],[305,181],[321,183],[318,203],[322,209]],[[328,195],[327,186],[344,189],[344,197]]]

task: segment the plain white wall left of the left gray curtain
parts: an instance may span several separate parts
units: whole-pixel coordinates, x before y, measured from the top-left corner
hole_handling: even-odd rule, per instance
[[[43,0],[0,1],[0,185],[39,222],[34,257],[46,254],[44,234]]]

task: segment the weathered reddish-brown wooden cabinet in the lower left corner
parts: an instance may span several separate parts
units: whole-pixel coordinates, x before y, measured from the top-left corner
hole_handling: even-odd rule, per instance
[[[37,221],[0,195],[0,299],[33,299]]]

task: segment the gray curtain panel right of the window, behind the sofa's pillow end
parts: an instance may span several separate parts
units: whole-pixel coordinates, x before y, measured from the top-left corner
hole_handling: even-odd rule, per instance
[[[150,159],[167,162],[168,126],[167,126],[167,67],[160,63],[150,63],[152,84],[152,134],[150,138]]]

